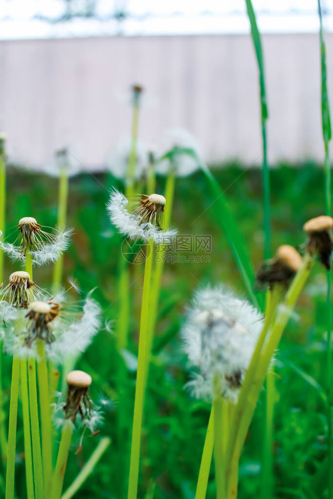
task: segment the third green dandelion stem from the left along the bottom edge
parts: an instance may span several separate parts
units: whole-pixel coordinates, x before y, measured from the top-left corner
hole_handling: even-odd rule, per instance
[[[28,384],[29,384],[29,403],[30,403],[35,498],[43,499],[44,497],[43,468],[42,468],[41,451],[40,451],[40,435],[39,435],[37,387],[36,387],[36,365],[34,359],[28,359]]]

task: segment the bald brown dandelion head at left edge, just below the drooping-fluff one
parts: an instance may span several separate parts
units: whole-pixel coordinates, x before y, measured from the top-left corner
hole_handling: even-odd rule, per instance
[[[18,270],[9,275],[9,283],[5,289],[5,296],[9,303],[17,308],[27,308],[33,298],[35,283],[30,275],[23,270]]]

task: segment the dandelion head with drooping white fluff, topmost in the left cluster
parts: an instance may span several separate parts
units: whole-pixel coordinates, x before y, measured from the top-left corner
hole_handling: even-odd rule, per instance
[[[72,229],[55,230],[53,234],[41,230],[41,226],[36,224],[32,217],[24,217],[22,220],[32,220],[36,230],[29,231],[29,236],[23,233],[19,246],[0,241],[0,248],[9,256],[12,261],[25,262],[26,251],[32,255],[32,263],[35,265],[45,265],[56,261],[60,254],[69,246]],[[28,225],[28,224],[24,224]],[[0,231],[0,236],[2,235]]]

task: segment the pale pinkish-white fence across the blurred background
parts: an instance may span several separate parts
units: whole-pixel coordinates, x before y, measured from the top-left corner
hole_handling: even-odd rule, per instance
[[[326,36],[333,102],[333,34]],[[315,34],[263,36],[269,160],[322,161]],[[145,87],[140,138],[184,127],[209,162],[259,164],[258,70],[249,35],[100,37],[0,42],[0,127],[8,154],[42,165],[67,145],[99,169],[129,134],[126,93]],[[123,96],[123,98],[122,98]]]

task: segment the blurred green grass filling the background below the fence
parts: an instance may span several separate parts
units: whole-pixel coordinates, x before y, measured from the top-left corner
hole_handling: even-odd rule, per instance
[[[237,165],[214,171],[241,234],[249,248],[254,268],[258,268],[263,253],[263,210],[261,172],[243,172]],[[234,182],[237,178],[238,180]],[[289,243],[296,247],[304,242],[303,223],[323,213],[323,171],[313,164],[291,169],[281,165],[271,172],[272,179],[272,248]],[[111,178],[99,175],[104,186],[113,185]],[[24,215],[33,215],[45,226],[53,226],[57,218],[57,192],[52,179],[41,176],[17,175],[8,171],[7,233]],[[234,183],[233,183],[234,182]],[[162,190],[157,179],[156,191]],[[105,203],[107,189],[85,175],[70,180],[68,224],[75,228],[73,244],[64,257],[64,275],[75,276],[84,292],[97,286],[95,298],[101,303],[105,319],[116,319],[117,270],[121,238],[111,227]],[[146,409],[141,445],[141,467],[138,498],[144,498],[150,484],[154,499],[193,499],[198,478],[202,449],[209,419],[210,405],[195,401],[183,389],[189,378],[186,358],[181,349],[179,328],[185,306],[198,281],[223,281],[243,296],[247,290],[237,269],[229,243],[221,229],[216,206],[202,212],[212,203],[211,193],[202,174],[176,183],[173,225],[182,234],[212,235],[210,262],[166,264],[162,277],[161,299],[154,357],[146,394]],[[195,221],[193,225],[192,221]],[[16,267],[6,259],[5,278]],[[137,355],[137,330],[143,267],[130,265],[131,279],[139,275],[131,290],[129,350]],[[286,330],[276,361],[274,473],[275,497],[325,497],[327,491],[327,404],[323,398],[326,386],[326,276],[316,265],[314,276],[301,296],[297,317]],[[50,286],[52,267],[34,270],[34,280],[40,286]],[[77,367],[88,371],[93,378],[91,395],[96,402],[100,396],[111,398],[114,404],[106,407],[101,436],[111,437],[108,447],[94,473],[83,483],[82,499],[105,497],[118,499],[123,477],[128,473],[129,439],[133,417],[135,372],[128,370],[129,396],[123,401],[125,421],[124,443],[117,441],[117,353],[116,339],[101,330]],[[8,414],[11,359],[3,358],[3,390],[7,397]],[[324,392],[325,393],[325,392]],[[250,433],[240,462],[239,498],[252,498],[260,493],[265,394],[261,395]],[[16,494],[25,497],[24,463],[22,461],[23,432],[19,410],[17,431]],[[80,432],[73,435],[73,449],[78,445]],[[64,490],[76,477],[96,448],[100,436],[83,440],[83,450],[77,456],[70,453]],[[59,441],[59,438],[57,439]],[[123,456],[119,459],[119,449]],[[123,470],[119,470],[119,462]],[[211,467],[207,499],[214,498],[214,467]],[[0,485],[1,486],[1,485]]]

